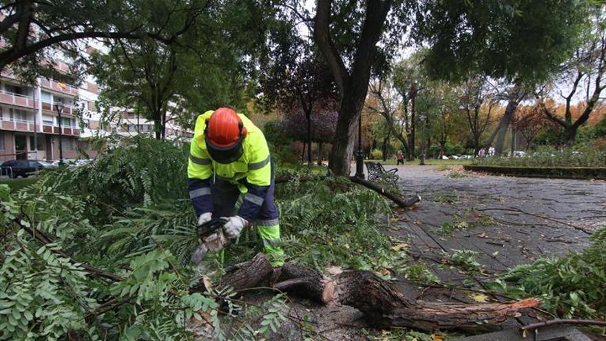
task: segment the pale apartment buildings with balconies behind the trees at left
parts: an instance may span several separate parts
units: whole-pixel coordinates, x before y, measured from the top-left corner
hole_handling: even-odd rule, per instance
[[[91,42],[89,42],[91,43]],[[103,45],[88,45],[87,54],[103,50]],[[134,136],[154,135],[154,122],[137,116],[132,108],[112,108],[113,121],[105,122],[96,108],[100,89],[93,76],[87,75],[81,85],[70,85],[69,66],[59,58],[53,62],[57,79],[38,77],[34,84],[24,84],[9,69],[0,74],[0,161],[14,159],[59,159],[59,132],[63,158],[94,157],[87,140],[109,134]],[[61,109],[59,122],[58,107]],[[171,105],[174,107],[174,105]],[[171,117],[169,113],[167,116]],[[61,124],[59,124],[61,123]],[[34,132],[36,136],[34,138]],[[166,137],[190,138],[191,130],[169,121]],[[35,140],[35,141],[34,141]],[[36,154],[37,144],[37,154]]]

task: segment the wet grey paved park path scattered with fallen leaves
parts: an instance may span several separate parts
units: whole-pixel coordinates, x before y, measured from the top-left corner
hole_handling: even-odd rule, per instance
[[[404,194],[418,193],[423,200],[397,211],[388,233],[408,240],[409,254],[454,286],[481,289],[505,269],[579,251],[589,245],[592,231],[606,224],[603,180],[485,176],[460,166],[397,168]],[[447,233],[449,225],[463,228]],[[469,276],[445,264],[445,253],[461,249],[479,253],[481,274]],[[452,288],[430,288],[417,296],[471,302],[469,292]]]

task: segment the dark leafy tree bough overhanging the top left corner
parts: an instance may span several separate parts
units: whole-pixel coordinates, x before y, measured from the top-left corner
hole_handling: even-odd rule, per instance
[[[158,20],[154,10],[160,1],[89,0],[89,1],[3,1],[0,22],[0,70],[11,65],[26,77],[44,74],[52,68],[54,54],[48,48],[61,48],[78,56],[79,39],[154,39],[172,45],[196,25],[207,1],[172,1],[163,18],[182,17],[179,27],[168,30],[160,24],[146,30],[149,22]]]

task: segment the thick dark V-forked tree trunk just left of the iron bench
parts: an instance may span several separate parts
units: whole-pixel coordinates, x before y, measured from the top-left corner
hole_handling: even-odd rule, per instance
[[[391,5],[391,0],[367,0],[365,6],[360,6],[364,7],[364,14],[361,14],[362,8],[358,7],[357,2],[317,1],[313,37],[333,74],[341,96],[337,134],[329,162],[329,167],[335,175],[349,174],[355,128],[368,92],[377,42],[381,38]],[[335,17],[353,20],[353,25],[348,25],[350,34],[347,35],[351,41],[355,41],[355,48],[342,49],[341,52],[337,49],[337,46],[342,48],[342,45],[337,43],[344,41],[344,35],[331,33],[331,27],[343,25],[342,22],[333,23]],[[333,30],[339,31],[338,28]]]

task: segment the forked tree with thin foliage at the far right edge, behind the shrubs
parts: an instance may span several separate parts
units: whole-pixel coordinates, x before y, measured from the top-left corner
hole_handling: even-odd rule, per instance
[[[561,75],[552,85],[547,85],[541,92],[536,93],[543,113],[564,130],[568,145],[574,143],[578,127],[587,122],[606,89],[606,6],[600,8],[591,20],[594,27],[587,32],[583,45],[576,50],[572,58],[563,63]],[[554,108],[545,103],[545,96],[550,93],[550,88],[557,89],[561,85],[568,88],[567,91],[560,90],[558,94],[565,102],[563,117],[558,116]],[[584,94],[579,94],[580,92]],[[573,118],[572,104],[578,99],[583,103],[583,111]]]

